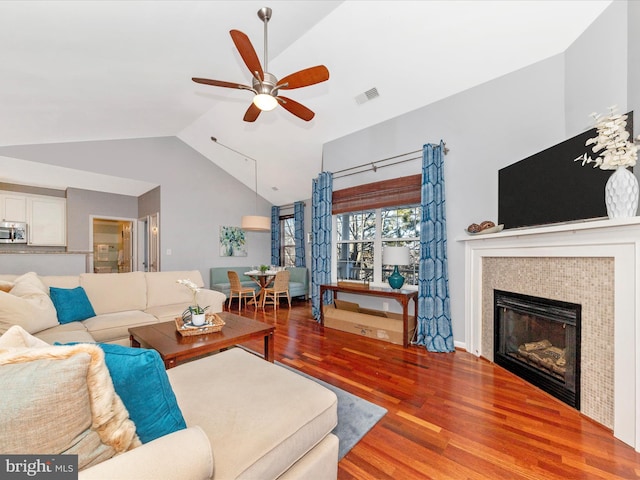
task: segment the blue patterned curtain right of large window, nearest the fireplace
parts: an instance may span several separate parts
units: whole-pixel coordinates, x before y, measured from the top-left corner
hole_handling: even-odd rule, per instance
[[[453,352],[447,229],[445,218],[444,144],[422,149],[422,218],[418,279],[417,342],[430,352]]]

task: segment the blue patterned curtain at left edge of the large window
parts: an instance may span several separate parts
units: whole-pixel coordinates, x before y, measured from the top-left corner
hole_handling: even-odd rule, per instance
[[[321,172],[313,180],[311,197],[311,312],[320,321],[320,301],[327,304],[331,300],[320,298],[320,285],[331,282],[331,206],[333,195],[333,174]]]

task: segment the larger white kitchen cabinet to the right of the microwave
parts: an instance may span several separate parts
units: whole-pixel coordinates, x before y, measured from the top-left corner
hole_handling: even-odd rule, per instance
[[[29,245],[67,244],[66,198],[28,196]]]

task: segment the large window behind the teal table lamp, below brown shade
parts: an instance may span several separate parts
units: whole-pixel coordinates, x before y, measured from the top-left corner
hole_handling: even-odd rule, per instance
[[[385,245],[409,247],[410,265],[399,265],[405,285],[418,284],[420,206],[387,207],[335,215],[339,280],[384,283],[395,265],[382,265]]]

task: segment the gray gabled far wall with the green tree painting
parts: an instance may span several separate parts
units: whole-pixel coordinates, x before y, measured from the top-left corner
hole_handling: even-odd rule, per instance
[[[255,193],[176,137],[2,147],[0,155],[160,185],[163,270],[200,270],[208,284],[210,267],[269,263],[265,233],[247,232],[247,257],[219,256],[220,226],[240,226]],[[260,198],[258,214],[270,209]]]

